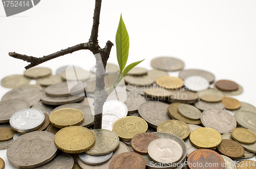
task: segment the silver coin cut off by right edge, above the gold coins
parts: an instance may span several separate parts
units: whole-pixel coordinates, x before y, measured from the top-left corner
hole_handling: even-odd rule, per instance
[[[234,114],[238,124],[249,130],[256,130],[256,114],[250,111],[238,111]]]

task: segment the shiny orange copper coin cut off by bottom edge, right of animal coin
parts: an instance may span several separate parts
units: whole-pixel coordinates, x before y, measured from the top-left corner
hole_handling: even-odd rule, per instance
[[[188,155],[187,162],[190,169],[223,169],[225,166],[223,157],[219,153],[209,149],[199,149],[193,151]]]

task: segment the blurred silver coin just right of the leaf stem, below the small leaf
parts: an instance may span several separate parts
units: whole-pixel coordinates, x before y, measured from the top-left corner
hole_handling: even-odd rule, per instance
[[[133,85],[151,85],[155,81],[149,77],[148,75],[143,76],[131,76],[126,75],[124,76],[125,83],[131,83]]]

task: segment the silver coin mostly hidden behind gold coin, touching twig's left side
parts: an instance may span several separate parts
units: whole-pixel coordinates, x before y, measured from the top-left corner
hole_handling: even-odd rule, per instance
[[[91,125],[93,125],[94,109],[92,109],[90,106],[80,104],[80,103],[71,103],[71,104],[65,104],[65,105],[58,106],[55,109],[53,109],[52,112],[55,110],[61,109],[61,108],[75,108],[75,109],[82,111],[82,113],[84,115],[84,120],[79,126],[90,127]]]

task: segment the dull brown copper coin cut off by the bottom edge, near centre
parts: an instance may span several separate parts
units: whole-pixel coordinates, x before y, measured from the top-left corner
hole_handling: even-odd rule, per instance
[[[145,169],[146,162],[138,153],[126,152],[115,156],[111,162],[109,169]]]

